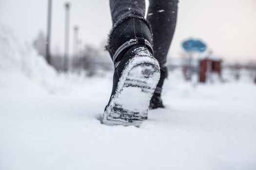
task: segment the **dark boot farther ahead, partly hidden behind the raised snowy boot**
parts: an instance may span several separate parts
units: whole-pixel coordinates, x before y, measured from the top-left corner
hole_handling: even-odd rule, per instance
[[[161,99],[161,92],[162,92],[162,85],[168,76],[168,70],[166,67],[160,67],[160,79],[157,85],[157,88],[150,100],[149,108],[150,109],[157,109],[157,108],[164,108],[162,99]]]

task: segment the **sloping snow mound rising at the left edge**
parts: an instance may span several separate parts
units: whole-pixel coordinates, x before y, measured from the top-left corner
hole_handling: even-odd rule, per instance
[[[63,79],[43,56],[39,56],[30,44],[21,43],[3,24],[0,24],[0,61],[0,74],[6,79],[18,74],[15,77],[29,79],[30,83],[36,83],[48,92],[66,91]]]

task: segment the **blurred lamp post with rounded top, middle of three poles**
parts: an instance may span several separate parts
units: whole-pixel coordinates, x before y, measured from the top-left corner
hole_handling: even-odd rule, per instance
[[[70,3],[65,3],[65,45],[64,45],[64,71],[68,71],[69,66],[69,9]]]

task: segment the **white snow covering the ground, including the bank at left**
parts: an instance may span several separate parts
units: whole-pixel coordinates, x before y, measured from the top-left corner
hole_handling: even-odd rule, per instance
[[[256,85],[170,72],[165,109],[136,127],[100,117],[112,75],[58,75],[0,30],[0,170],[255,170]]]

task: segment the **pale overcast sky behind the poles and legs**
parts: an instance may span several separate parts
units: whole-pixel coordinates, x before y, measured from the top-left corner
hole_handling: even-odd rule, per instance
[[[46,30],[48,0],[0,0],[0,22],[23,41]],[[52,51],[64,49],[64,3],[53,0]],[[83,43],[99,46],[111,28],[108,0],[70,0],[70,51],[73,26],[79,25]],[[256,0],[180,0],[177,28],[169,56],[182,51],[188,37],[203,39],[227,61],[256,59]]]

